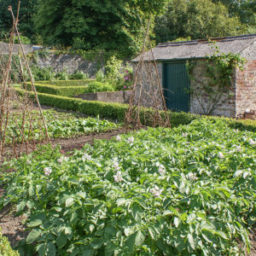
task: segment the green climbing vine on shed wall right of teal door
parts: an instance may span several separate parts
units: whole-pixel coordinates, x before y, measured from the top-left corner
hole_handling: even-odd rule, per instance
[[[202,62],[203,73],[201,75],[203,77],[195,75],[198,61],[191,60],[186,63],[191,84],[190,95],[199,103],[202,112],[207,115],[212,114],[218,103],[224,100],[224,96],[226,100],[234,96],[232,94],[234,71],[236,67],[243,70],[246,61],[239,54],[221,53],[214,42],[212,48],[215,48],[214,53],[207,55],[206,60]]]

